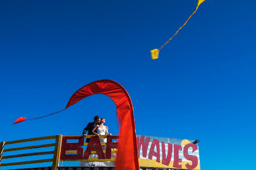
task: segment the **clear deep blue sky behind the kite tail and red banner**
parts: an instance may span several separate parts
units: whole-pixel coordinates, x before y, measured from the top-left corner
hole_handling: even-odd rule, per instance
[[[123,85],[139,135],[199,139],[201,169],[253,169],[256,1],[1,1],[0,141],[80,135],[115,105],[95,95],[63,113],[82,86]]]

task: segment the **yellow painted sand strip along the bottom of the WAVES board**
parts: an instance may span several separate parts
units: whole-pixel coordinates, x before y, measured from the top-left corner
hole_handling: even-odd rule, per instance
[[[191,165],[192,163],[188,162],[182,162],[181,169],[188,169],[185,167],[185,164]],[[173,161],[170,161],[169,166],[162,164],[162,160],[160,160],[160,163],[158,163],[156,160],[150,160],[150,159],[139,159],[139,166],[140,167],[154,167],[154,168],[173,168]],[[197,164],[197,167],[194,168],[197,170],[200,170],[200,163]]]

